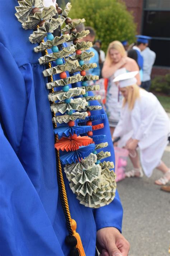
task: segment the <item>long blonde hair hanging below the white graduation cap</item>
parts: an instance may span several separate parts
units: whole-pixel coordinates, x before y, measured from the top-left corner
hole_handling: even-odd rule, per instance
[[[123,107],[127,103],[129,110],[134,108],[134,103],[136,99],[140,98],[140,87],[138,85],[132,85],[125,87],[128,90],[128,97],[127,99],[123,99]]]

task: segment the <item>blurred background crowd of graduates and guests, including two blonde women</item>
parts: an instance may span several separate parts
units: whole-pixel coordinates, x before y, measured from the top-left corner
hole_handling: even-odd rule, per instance
[[[128,149],[133,164],[133,170],[126,172],[126,177],[142,177],[143,171],[150,177],[157,168],[163,176],[155,184],[166,185],[170,181],[170,169],[161,157],[168,143],[169,118],[156,96],[148,92],[156,58],[155,52],[148,47],[151,37],[137,35],[137,42],[131,45],[126,40],[113,41],[105,57],[100,49],[101,41],[95,41],[94,29],[85,29],[90,31],[88,40],[91,38],[94,42],[98,68],[93,72],[100,74],[95,83],[100,84],[99,94],[104,95],[101,103],[108,116],[112,139],[118,140],[118,147]],[[131,73],[135,77],[130,81],[128,75]],[[122,79],[124,85],[121,86],[116,78]]]

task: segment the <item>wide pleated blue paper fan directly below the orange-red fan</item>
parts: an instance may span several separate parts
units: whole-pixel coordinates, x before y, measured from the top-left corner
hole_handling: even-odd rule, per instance
[[[63,164],[80,162],[82,158],[88,157],[90,153],[95,150],[95,144],[92,143],[88,146],[82,146],[76,151],[72,152],[60,152],[60,160]]]

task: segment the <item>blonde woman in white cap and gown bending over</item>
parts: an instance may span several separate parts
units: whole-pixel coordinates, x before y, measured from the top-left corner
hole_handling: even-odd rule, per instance
[[[113,136],[114,139],[121,137],[118,146],[126,147],[131,153],[129,156],[134,169],[126,172],[127,177],[143,175],[136,151],[139,147],[146,176],[150,177],[154,168],[157,168],[164,175],[155,183],[165,185],[170,180],[170,169],[161,161],[161,157],[167,145],[169,118],[156,96],[136,85],[136,73],[124,73],[114,79],[114,82],[119,81],[124,99],[121,119]]]

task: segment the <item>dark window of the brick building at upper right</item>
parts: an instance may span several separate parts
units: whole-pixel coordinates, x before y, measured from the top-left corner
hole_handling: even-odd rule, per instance
[[[145,0],[142,35],[151,36],[155,66],[170,66],[170,0]]]

